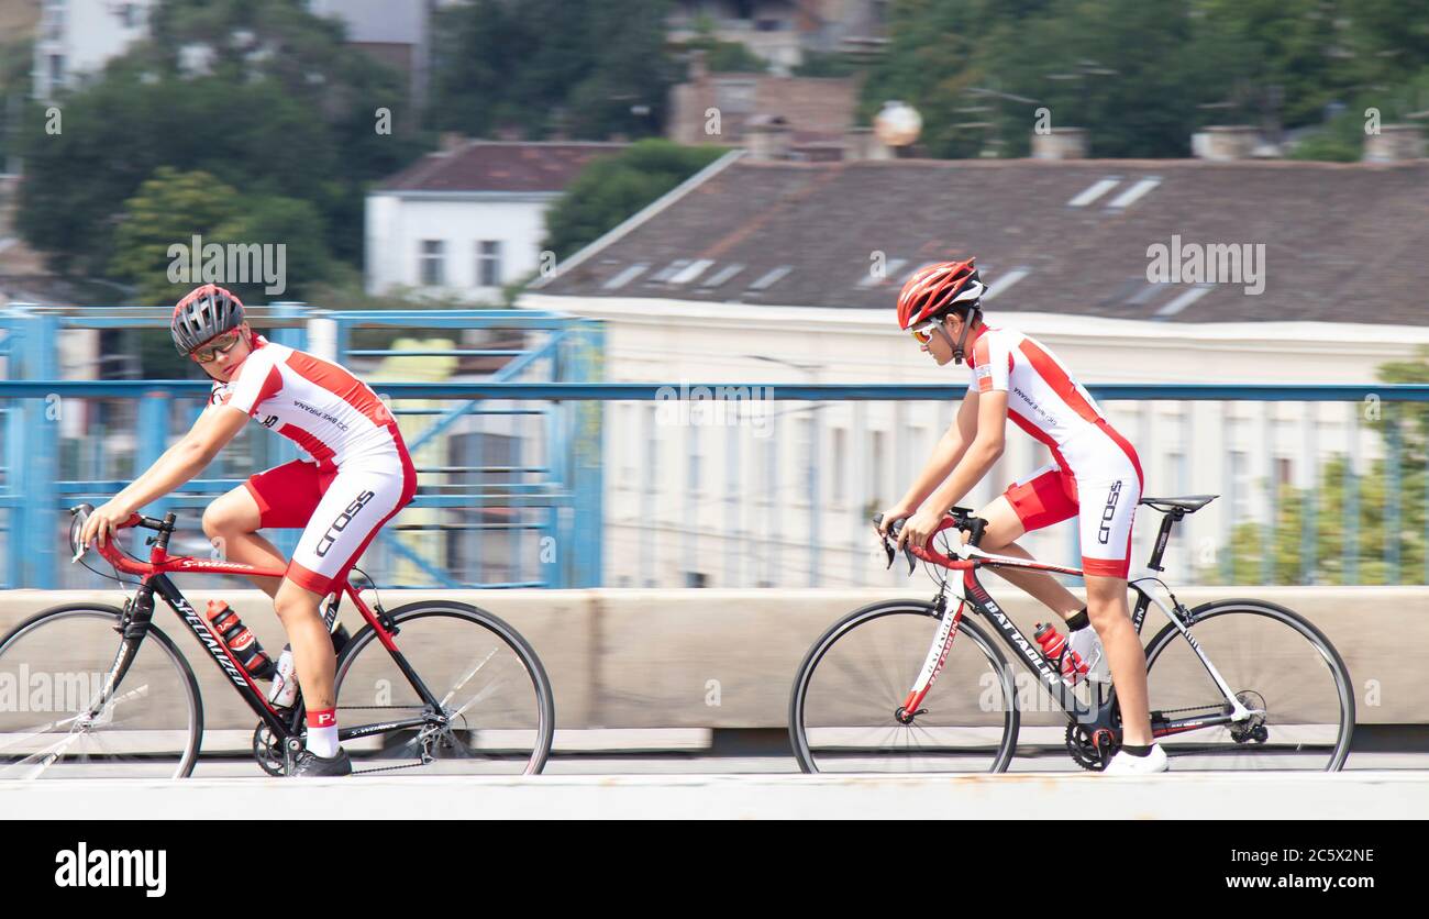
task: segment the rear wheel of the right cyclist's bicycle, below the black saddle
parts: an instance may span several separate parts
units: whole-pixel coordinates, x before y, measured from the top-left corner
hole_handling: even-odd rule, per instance
[[[1219,600],[1192,610],[1190,635],[1242,705],[1265,715],[1159,736],[1172,770],[1343,768],[1355,730],[1355,690],[1345,662],[1319,629],[1275,603]],[[1146,685],[1153,733],[1163,719],[1230,712],[1172,623],[1146,647]]]

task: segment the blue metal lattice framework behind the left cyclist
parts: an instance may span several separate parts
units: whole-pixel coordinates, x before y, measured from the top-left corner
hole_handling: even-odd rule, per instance
[[[343,350],[342,360],[373,359],[373,357],[413,357],[413,356],[446,356],[446,357],[483,357],[503,359],[496,363],[500,369],[494,379],[519,379],[523,374],[543,374],[546,380],[589,380],[589,373],[599,370],[599,360],[590,357],[592,349],[600,349],[600,330],[596,323],[576,317],[556,316],[542,312],[526,310],[382,310],[363,313],[329,313],[309,310],[303,304],[270,304],[252,310],[250,319],[270,340],[293,347],[306,347],[309,343],[309,327],[314,320],[327,320],[336,327],[337,344]],[[110,443],[119,434],[121,442],[133,443],[131,469],[137,475],[147,467],[167,446],[170,437],[181,430],[197,416],[206,402],[209,383],[190,380],[64,380],[57,366],[60,353],[60,336],[73,329],[167,329],[169,310],[156,307],[24,307],[11,306],[0,313],[0,356],[6,356],[6,370],[10,379],[0,380],[0,406],[6,412],[6,450],[4,472],[6,479],[0,487],[0,519],[11,532],[36,533],[34,539],[17,545],[10,540],[6,545],[7,567],[4,572],[4,586],[40,586],[47,587],[56,583],[56,549],[57,539],[49,539],[47,533],[60,533],[59,515],[63,507],[79,500],[106,500],[114,492],[129,483],[120,479],[123,475],[124,456],[109,456],[96,447]],[[420,330],[430,334],[432,329],[497,329],[517,330],[516,339],[523,347],[473,347],[473,349],[426,349],[407,350],[397,347],[366,347],[350,349],[350,339],[360,329],[389,329],[396,334]],[[330,329],[326,336],[330,340]],[[547,334],[549,333],[549,334]],[[532,336],[534,334],[534,339]],[[532,343],[534,340],[534,343]],[[24,347],[16,347],[23,342]],[[580,376],[577,376],[580,374]],[[456,409],[450,406],[424,407],[404,406],[403,402],[413,399],[449,400],[456,390],[447,392],[443,387],[463,386],[462,383],[420,383],[420,392],[413,390],[406,383],[377,383],[374,389],[387,400],[392,400],[393,413],[399,422],[406,419],[429,419],[424,430],[413,432],[404,423],[409,436],[409,446],[413,453],[422,447],[437,446],[447,449],[450,434],[464,433],[469,440],[484,437],[480,419],[510,419],[512,423],[529,420],[537,423],[544,419],[544,424],[536,432],[544,432],[557,440],[547,444],[547,457],[560,462],[529,463],[522,462],[517,453],[510,462],[469,462],[464,465],[452,463],[444,453],[417,460],[419,466],[419,497],[413,507],[430,507],[442,513],[450,509],[507,509],[513,517],[506,520],[472,523],[460,522],[437,523],[396,523],[384,527],[382,537],[373,549],[390,557],[400,559],[416,570],[422,572],[432,583],[450,587],[489,587],[489,586],[587,586],[599,577],[600,542],[599,522],[587,519],[590,513],[599,513],[599,495],[592,503],[589,496],[576,493],[577,487],[599,492],[599,476],[584,477],[579,482],[569,482],[563,476],[577,470],[594,469],[599,473],[597,459],[572,460],[560,457],[559,450],[566,444],[574,444],[573,426],[576,419],[569,404],[547,403],[540,407],[524,406],[496,406],[492,399],[512,399],[513,393],[497,390],[493,394],[462,390],[464,396]],[[519,397],[519,394],[517,394]],[[124,416],[117,426],[111,419],[104,424],[100,419],[116,414],[114,407],[123,410]],[[64,469],[74,473],[66,475],[60,469],[59,447],[61,436],[60,424],[47,419],[47,407],[63,407],[69,412],[67,429],[73,429],[73,422],[80,417],[83,432],[76,442],[73,430],[64,436]],[[77,414],[76,414],[77,413]],[[432,420],[434,419],[434,420]],[[94,436],[96,423],[103,424],[100,436]],[[127,429],[124,427],[127,424]],[[463,430],[464,429],[464,430]],[[104,434],[104,432],[109,432]],[[440,443],[439,443],[440,442]],[[589,444],[587,444],[589,446]],[[277,465],[297,454],[287,442],[276,437],[252,437],[246,432],[236,440],[226,454],[244,453],[247,470],[263,469]],[[262,457],[264,462],[257,462]],[[243,457],[239,457],[243,459]],[[117,462],[116,462],[117,460]],[[243,463],[230,463],[242,467]],[[17,480],[9,473],[19,470]],[[237,469],[234,469],[237,472]],[[479,485],[462,485],[466,479],[479,479]],[[242,479],[230,479],[220,475],[190,482],[177,489],[171,496],[156,502],[146,509],[149,513],[163,513],[174,507],[201,506],[216,492],[227,490],[240,485]],[[476,490],[473,490],[476,489]],[[573,513],[572,513],[573,512]],[[420,516],[420,515],[419,515]],[[422,530],[427,530],[423,533]],[[464,552],[472,563],[482,563],[482,553],[489,543],[480,537],[490,533],[493,539],[506,542],[507,559],[504,567],[509,576],[494,579],[469,579],[444,566],[440,557],[447,549]],[[527,552],[524,539],[534,535],[540,539],[559,539],[567,552],[560,560],[534,560],[536,553]],[[290,552],[296,543],[296,532],[279,532],[279,547]],[[429,539],[427,549],[413,550],[407,540]],[[436,552],[430,552],[430,537],[442,539]],[[453,545],[460,540],[460,546]],[[439,557],[440,556],[440,557]],[[454,556],[453,556],[454,557]],[[524,569],[524,573],[523,573]],[[510,576],[514,575],[514,576]],[[403,585],[407,586],[407,585]]]

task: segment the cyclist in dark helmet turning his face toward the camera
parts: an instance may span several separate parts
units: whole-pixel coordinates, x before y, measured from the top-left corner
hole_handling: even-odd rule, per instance
[[[337,743],[336,656],[319,606],[377,530],[412,502],[416,470],[397,423],[344,367],[272,344],[249,327],[243,303],[204,284],[174,307],[174,347],[213,379],[209,407],[193,429],[129,487],[99,507],[83,542],[104,543],[140,507],[197,476],[249,419],[293,440],[307,459],[249,477],[203,513],[203,530],[223,540],[230,562],[280,569],[253,582],[273,597],[293,646],[307,737],[289,775],[337,776],[352,760]],[[257,535],[302,527],[292,560]]]

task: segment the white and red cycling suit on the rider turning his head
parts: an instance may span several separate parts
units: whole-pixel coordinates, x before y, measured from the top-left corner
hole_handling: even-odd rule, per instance
[[[253,353],[210,410],[227,406],[312,459],[249,477],[260,527],[303,527],[287,577],[314,593],[357,562],[382,525],[412,502],[417,473],[387,406],[344,367],[253,336]]]

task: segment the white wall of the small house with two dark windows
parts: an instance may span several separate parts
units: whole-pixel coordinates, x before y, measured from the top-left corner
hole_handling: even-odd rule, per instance
[[[369,194],[366,207],[366,287],[380,294],[412,287],[432,296],[469,302],[500,300],[500,286],[482,287],[477,274],[477,242],[502,243],[502,283],[509,284],[537,270],[544,214],[557,194],[403,196]],[[444,287],[423,287],[422,240],[446,243]]]

